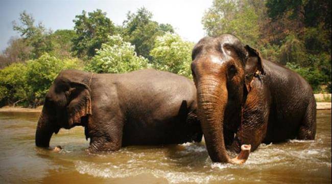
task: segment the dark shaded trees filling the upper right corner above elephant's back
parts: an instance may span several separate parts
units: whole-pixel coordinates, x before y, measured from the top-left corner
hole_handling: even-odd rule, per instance
[[[288,63],[316,92],[321,86],[330,92],[331,1],[267,0],[266,7],[273,28],[267,35],[281,46],[281,63]]]

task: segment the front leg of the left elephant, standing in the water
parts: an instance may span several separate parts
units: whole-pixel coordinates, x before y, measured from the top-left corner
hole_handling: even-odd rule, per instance
[[[90,123],[90,122],[89,122]],[[112,118],[110,121],[98,122],[95,129],[93,125],[89,127],[90,146],[89,152],[117,151],[122,147],[123,120]]]

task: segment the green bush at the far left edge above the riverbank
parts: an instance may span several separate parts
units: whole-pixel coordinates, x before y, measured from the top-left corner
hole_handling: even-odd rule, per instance
[[[27,66],[22,63],[13,63],[0,70],[0,105],[27,99],[26,71]]]

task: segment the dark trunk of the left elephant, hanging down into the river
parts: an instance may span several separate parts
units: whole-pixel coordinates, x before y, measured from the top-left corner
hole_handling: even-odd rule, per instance
[[[36,137],[35,143],[38,147],[50,147],[50,140],[54,128],[49,120],[49,115],[46,113],[45,106],[40,114],[37,128],[36,128]]]

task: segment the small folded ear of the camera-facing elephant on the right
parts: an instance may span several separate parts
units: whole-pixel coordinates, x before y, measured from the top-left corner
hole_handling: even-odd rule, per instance
[[[262,65],[262,58],[260,54],[255,49],[251,48],[249,45],[245,46],[247,51],[247,60],[245,64],[245,85],[247,91],[251,90],[251,81],[255,76],[259,74],[264,75],[264,69]]]

